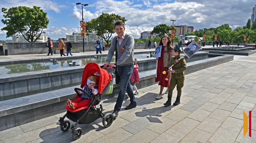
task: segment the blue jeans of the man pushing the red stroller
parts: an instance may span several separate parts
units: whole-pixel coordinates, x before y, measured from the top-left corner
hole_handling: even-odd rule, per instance
[[[136,103],[136,99],[135,96],[133,94],[132,91],[132,87],[130,85],[130,78],[132,76],[132,71],[133,71],[133,67],[134,64],[132,65],[127,65],[127,66],[117,66],[117,70],[118,70],[118,75],[120,76],[120,83],[119,83],[119,94],[116,100],[116,105],[114,110],[117,110],[118,112],[120,111],[121,107],[122,107],[122,103],[124,101],[124,97],[125,97],[125,93],[127,92],[128,96],[130,97],[130,101],[131,102],[135,102]]]

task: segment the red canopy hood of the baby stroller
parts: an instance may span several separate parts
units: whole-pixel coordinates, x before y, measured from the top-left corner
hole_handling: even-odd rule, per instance
[[[83,88],[84,86],[86,86],[87,79],[97,71],[99,71],[100,77],[96,76],[96,83],[98,85],[99,94],[102,94],[103,90],[112,79],[112,75],[108,73],[107,70],[100,68],[100,66],[97,63],[88,63],[85,66],[83,71],[82,83],[80,87]]]

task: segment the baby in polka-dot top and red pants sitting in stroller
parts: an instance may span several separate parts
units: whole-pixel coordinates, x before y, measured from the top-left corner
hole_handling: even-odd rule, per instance
[[[94,73],[94,75],[97,75],[97,72]],[[67,100],[66,103],[69,106],[69,108],[75,109],[75,108],[89,105],[91,103],[90,99],[94,95],[97,95],[99,92],[99,90],[97,89],[96,81],[97,81],[97,79],[95,76],[93,76],[93,75],[90,76],[87,79],[87,85],[83,88],[83,90],[86,91],[90,97],[86,93],[77,90],[77,92],[82,95],[81,95],[81,97],[75,98],[75,100],[73,100],[73,101]]]

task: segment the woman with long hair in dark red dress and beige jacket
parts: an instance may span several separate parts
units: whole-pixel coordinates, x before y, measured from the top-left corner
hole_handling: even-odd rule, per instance
[[[156,58],[157,62],[157,73],[155,82],[158,82],[160,85],[160,92],[157,95],[156,99],[162,98],[162,92],[164,87],[169,87],[170,85],[170,75],[168,76],[168,80],[165,80],[167,74],[163,74],[163,71],[168,71],[168,62],[171,60],[171,41],[168,35],[164,35],[159,42],[159,46],[162,46],[161,49],[161,57]]]

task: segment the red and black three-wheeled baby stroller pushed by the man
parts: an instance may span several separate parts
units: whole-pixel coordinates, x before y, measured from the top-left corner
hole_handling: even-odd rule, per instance
[[[105,127],[109,127],[113,122],[113,115],[111,113],[104,114],[102,112],[103,108],[100,103],[102,94],[111,94],[113,91],[113,74],[108,73],[105,69],[102,68],[103,66],[99,66],[97,63],[88,63],[84,68],[82,83],[80,86],[81,88],[86,85],[87,79],[91,75],[93,75],[97,71],[99,71],[100,73],[100,76],[96,76],[99,93],[90,99],[90,104],[88,106],[83,106],[76,109],[70,109],[67,105],[67,113],[63,117],[59,118],[60,128],[63,132],[66,132],[70,128],[70,122],[64,121],[65,117],[73,122],[76,122],[70,128],[72,130],[73,139],[79,139],[83,133],[83,130],[81,128],[76,127],[77,124],[90,124],[98,118],[103,118],[102,124]],[[77,90],[88,94],[83,89],[75,88],[75,92],[77,93],[76,98],[81,96],[80,94],[78,94]]]

